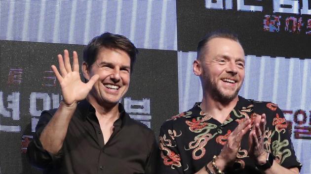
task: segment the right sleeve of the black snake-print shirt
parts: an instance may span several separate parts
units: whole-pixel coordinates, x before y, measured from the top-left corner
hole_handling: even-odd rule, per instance
[[[272,103],[268,103],[267,107],[269,105],[272,105]],[[277,106],[274,107],[273,110],[275,110],[275,112],[273,112],[273,115],[271,116],[273,120],[271,137],[269,137],[269,139],[271,138],[271,151],[275,156],[275,161],[285,168],[289,169],[297,167],[300,170],[302,165],[295,155],[286,119]]]

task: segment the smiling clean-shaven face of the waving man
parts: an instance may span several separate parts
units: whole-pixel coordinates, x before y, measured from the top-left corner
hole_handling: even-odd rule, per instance
[[[125,95],[130,83],[131,60],[118,49],[101,48],[91,67],[83,63],[83,75],[89,80],[98,74],[99,79],[90,91],[98,104],[117,104]]]

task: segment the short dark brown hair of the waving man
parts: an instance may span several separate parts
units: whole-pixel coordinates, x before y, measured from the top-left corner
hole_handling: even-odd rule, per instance
[[[90,67],[96,60],[98,51],[101,48],[119,49],[128,54],[131,59],[131,72],[136,60],[138,50],[135,45],[125,36],[105,32],[102,35],[94,37],[84,48],[83,61]]]

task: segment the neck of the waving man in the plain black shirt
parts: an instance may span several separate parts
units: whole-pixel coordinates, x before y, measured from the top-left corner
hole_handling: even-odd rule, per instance
[[[92,96],[87,95],[86,100],[94,107],[96,111],[96,116],[99,120],[107,119],[107,120],[117,120],[119,117],[119,103],[116,104],[106,104],[99,102]]]

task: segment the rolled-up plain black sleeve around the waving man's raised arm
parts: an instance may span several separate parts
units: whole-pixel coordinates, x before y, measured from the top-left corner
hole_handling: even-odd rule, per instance
[[[27,148],[27,157],[30,163],[39,169],[48,169],[52,167],[54,161],[56,161],[61,156],[61,150],[56,155],[48,152],[47,150],[44,150],[39,140],[40,134],[51,118],[52,114],[50,112],[42,112],[36,126],[34,139]]]

